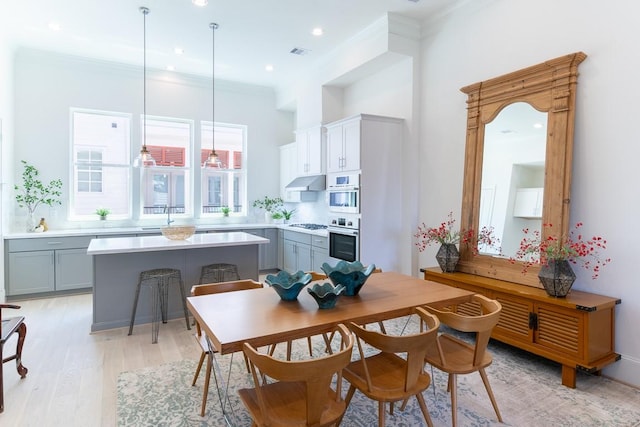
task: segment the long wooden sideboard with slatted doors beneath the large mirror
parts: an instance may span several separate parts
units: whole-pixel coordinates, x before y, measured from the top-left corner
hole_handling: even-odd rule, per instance
[[[562,364],[562,384],[575,388],[576,370],[599,373],[615,353],[615,307],[620,299],[572,290],[555,298],[544,289],[468,273],[421,269],[425,280],[462,288],[502,304],[491,337]],[[477,313],[469,304],[457,310]]]

